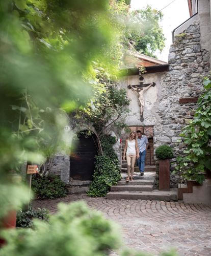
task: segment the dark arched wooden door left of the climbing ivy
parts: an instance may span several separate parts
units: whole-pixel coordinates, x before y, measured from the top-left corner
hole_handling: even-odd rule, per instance
[[[97,155],[96,136],[78,135],[73,141],[75,150],[70,155],[70,178],[73,180],[92,180],[95,155]]]

